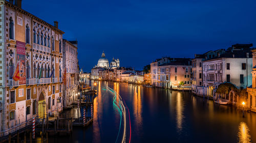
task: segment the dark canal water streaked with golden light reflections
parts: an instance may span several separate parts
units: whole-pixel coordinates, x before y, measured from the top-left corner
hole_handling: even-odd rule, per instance
[[[91,81],[92,88],[95,82],[91,126],[74,127],[72,135],[50,137],[49,142],[116,142],[120,116],[113,93],[102,89],[106,86],[120,94],[130,111],[131,142],[256,142],[256,113],[246,112],[242,118],[236,107],[211,100],[207,104],[188,92],[107,81]]]

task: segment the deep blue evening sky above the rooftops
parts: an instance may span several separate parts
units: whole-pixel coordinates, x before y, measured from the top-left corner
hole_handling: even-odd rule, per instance
[[[79,66],[97,64],[102,51],[120,66],[142,69],[162,56],[256,44],[256,1],[237,0],[23,0],[23,9],[78,40]]]

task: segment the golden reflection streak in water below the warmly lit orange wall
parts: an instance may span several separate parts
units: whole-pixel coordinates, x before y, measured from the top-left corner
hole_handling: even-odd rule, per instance
[[[183,111],[184,111],[184,103],[182,99],[182,95],[180,92],[177,93],[176,97],[176,112],[177,112],[177,131],[181,132],[182,131],[182,123],[183,123]]]

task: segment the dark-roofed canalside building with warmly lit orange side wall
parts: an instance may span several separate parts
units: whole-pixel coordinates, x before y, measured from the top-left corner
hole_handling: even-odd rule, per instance
[[[191,88],[191,59],[162,58],[151,63],[151,83],[159,88],[179,88],[181,81],[184,88]]]

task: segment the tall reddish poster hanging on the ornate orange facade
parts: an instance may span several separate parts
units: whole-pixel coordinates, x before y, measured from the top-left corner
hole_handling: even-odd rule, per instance
[[[25,46],[26,43],[16,41],[17,63],[19,64],[19,84],[26,84]]]

